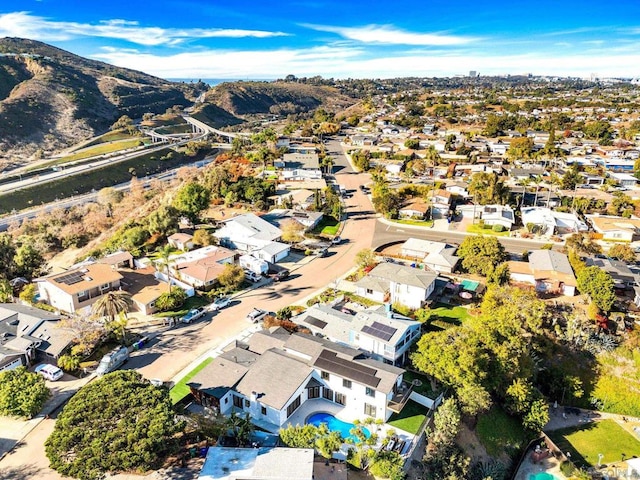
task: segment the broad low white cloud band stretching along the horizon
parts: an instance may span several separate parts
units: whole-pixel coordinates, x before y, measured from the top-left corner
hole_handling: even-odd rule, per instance
[[[319,47],[271,51],[209,50],[170,56],[139,55],[127,51],[109,51],[95,58],[121,67],[134,68],[163,78],[282,78],[322,75],[325,78],[392,78],[402,76],[451,76],[469,69],[483,75],[524,74],[588,76],[597,71],[602,76],[633,76],[630,65],[640,65],[640,54],[610,51],[588,55],[548,52],[531,54],[495,54],[449,52],[448,54],[387,53],[365,58],[357,48]]]

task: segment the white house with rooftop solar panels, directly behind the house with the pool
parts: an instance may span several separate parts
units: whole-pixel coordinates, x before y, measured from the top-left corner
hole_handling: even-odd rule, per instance
[[[406,363],[409,348],[420,337],[420,322],[392,312],[365,310],[350,314],[316,304],[291,320],[316,336],[396,366]]]

